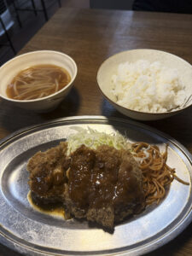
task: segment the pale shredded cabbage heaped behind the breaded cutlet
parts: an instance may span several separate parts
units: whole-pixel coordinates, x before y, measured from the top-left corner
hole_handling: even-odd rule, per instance
[[[89,126],[87,127],[87,129],[75,126],[71,129],[77,132],[71,134],[67,138],[67,154],[72,153],[82,144],[92,149],[96,149],[98,146],[105,144],[116,149],[125,148],[131,150],[131,143],[129,143],[127,139],[124,136],[122,136],[118,131],[116,131],[115,133],[112,132],[108,134],[106,132],[91,129]]]

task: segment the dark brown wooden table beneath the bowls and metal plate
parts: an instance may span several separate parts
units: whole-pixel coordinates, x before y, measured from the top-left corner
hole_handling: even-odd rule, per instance
[[[75,86],[59,108],[51,113],[32,113],[0,100],[0,138],[27,125],[73,115],[122,117],[96,84],[102,61],[126,49],[160,49],[192,63],[192,15],[132,11],[59,9],[20,51],[52,49],[71,55],[79,73]],[[191,108],[176,116],[145,122],[177,139],[192,153]],[[192,224],[148,255],[192,255]],[[20,255],[0,246],[0,256]]]

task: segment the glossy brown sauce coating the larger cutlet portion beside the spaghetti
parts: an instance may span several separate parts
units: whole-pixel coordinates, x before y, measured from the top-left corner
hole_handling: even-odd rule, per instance
[[[127,162],[122,166],[120,150],[107,145],[92,150],[83,145],[72,154],[69,195],[84,209],[126,205],[136,198],[142,201],[143,191],[132,168]]]

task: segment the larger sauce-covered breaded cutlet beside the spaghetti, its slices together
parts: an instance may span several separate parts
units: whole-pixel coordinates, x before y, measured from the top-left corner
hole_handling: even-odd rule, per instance
[[[131,154],[102,145],[84,145],[71,155],[65,206],[75,218],[113,229],[143,207],[142,172]]]

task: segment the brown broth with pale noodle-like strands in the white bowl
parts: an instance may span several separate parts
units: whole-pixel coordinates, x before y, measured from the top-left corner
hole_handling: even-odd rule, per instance
[[[20,71],[8,84],[6,93],[15,100],[32,100],[49,96],[70,81],[70,74],[62,67],[37,65]]]

